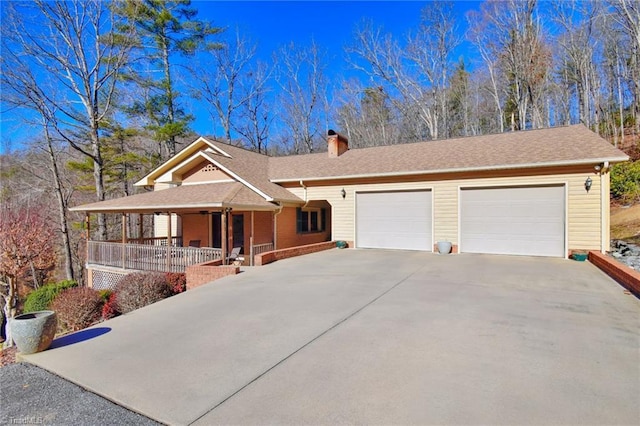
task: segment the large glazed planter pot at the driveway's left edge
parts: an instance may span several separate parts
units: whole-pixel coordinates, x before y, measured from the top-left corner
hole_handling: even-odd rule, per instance
[[[11,337],[23,355],[42,352],[51,346],[58,318],[54,311],[37,311],[11,320]]]

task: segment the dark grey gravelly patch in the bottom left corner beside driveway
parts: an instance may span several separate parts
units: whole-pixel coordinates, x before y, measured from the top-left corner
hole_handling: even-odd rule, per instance
[[[160,424],[27,363],[7,365],[0,375],[0,424]]]

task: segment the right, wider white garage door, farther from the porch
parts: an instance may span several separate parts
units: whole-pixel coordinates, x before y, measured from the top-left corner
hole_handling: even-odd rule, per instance
[[[460,251],[564,257],[564,186],[460,191]]]

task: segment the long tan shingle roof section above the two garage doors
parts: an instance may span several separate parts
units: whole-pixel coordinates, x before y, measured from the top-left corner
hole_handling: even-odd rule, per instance
[[[273,157],[272,182],[597,164],[628,156],[583,125]]]

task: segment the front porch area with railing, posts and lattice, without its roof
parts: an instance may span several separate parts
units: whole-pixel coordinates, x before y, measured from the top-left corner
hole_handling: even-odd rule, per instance
[[[256,254],[275,246],[272,211],[222,208],[119,214],[121,239],[109,241],[89,239],[91,215],[86,215],[87,284],[96,289],[113,289],[134,272],[186,273],[187,268],[204,264],[252,266]],[[152,230],[143,226],[149,216]],[[147,232],[154,236],[146,237]]]

